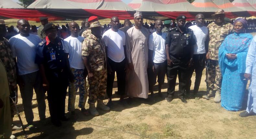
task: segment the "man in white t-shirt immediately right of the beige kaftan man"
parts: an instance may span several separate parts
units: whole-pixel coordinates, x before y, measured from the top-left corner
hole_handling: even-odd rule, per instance
[[[165,74],[167,70],[165,39],[166,33],[162,33],[164,24],[162,20],[155,21],[156,32],[151,34],[148,39],[149,49],[149,69],[148,82],[149,92],[153,95],[153,86],[158,82],[158,95],[161,94],[161,87],[164,84]],[[157,80],[157,82],[156,82]]]

